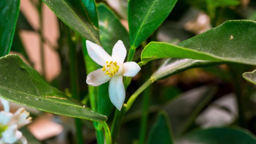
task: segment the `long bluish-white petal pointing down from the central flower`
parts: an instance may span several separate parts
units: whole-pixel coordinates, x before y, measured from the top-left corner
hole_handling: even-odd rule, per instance
[[[109,98],[112,104],[120,111],[125,100],[125,88],[122,74],[113,76],[109,80]]]

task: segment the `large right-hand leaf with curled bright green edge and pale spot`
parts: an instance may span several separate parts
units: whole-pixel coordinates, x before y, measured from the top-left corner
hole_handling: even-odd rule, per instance
[[[151,42],[141,53],[140,65],[159,58],[191,58],[256,65],[256,22],[227,21],[185,40],[178,46]]]

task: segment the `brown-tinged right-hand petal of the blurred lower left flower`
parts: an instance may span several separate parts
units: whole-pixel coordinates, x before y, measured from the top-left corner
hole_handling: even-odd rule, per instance
[[[18,129],[28,123],[31,123],[32,118],[29,117],[29,112],[25,110],[25,108],[19,108],[14,114],[12,119],[10,120],[10,125],[15,123],[18,125]]]

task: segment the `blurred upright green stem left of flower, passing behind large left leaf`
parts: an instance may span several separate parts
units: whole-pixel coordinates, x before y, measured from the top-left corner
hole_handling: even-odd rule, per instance
[[[67,27],[67,25],[64,26],[64,31],[67,36],[68,49],[69,49],[71,94],[72,94],[72,98],[80,101],[79,83],[78,83],[78,77],[77,77],[78,70],[77,70],[76,49],[75,49],[74,43],[71,40],[70,30]],[[77,144],[83,144],[81,120],[76,118],[75,125],[76,125]]]

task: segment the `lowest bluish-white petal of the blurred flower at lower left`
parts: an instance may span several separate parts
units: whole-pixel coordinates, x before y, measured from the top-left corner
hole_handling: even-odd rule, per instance
[[[4,143],[13,144],[22,137],[22,133],[17,130],[18,126],[13,124],[8,126],[8,129],[2,133],[1,140]]]

